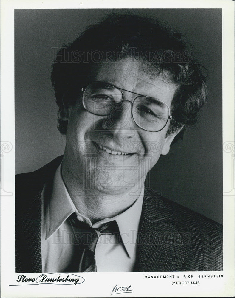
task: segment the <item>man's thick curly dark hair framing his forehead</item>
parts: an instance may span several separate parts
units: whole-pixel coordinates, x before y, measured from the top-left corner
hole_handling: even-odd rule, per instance
[[[166,136],[180,134],[195,125],[206,98],[205,68],[192,54],[191,44],[181,34],[158,20],[112,13],[89,26],[72,43],[61,47],[52,65],[52,85],[58,111],[58,129],[66,134],[65,109],[74,104],[87,83],[92,65],[132,57],[160,73],[178,88],[171,104],[171,119]],[[152,72],[151,72],[152,73]]]

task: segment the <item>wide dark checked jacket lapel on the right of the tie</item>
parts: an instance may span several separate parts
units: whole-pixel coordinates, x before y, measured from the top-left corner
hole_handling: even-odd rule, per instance
[[[145,189],[134,271],[183,271],[187,253],[182,235],[160,196]]]

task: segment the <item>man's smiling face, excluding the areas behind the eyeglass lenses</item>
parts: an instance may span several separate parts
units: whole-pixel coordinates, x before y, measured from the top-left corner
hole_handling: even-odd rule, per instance
[[[103,63],[94,67],[92,73],[91,82],[103,81],[154,97],[169,107],[177,88],[162,76],[150,79],[143,64],[131,59]],[[131,102],[137,97],[126,91],[123,95]],[[110,194],[137,190],[160,154],[168,153],[174,138],[165,138],[169,121],[161,131],[145,131],[133,121],[131,108],[131,103],[123,101],[121,108],[109,117],[86,111],[81,99],[69,107],[63,172],[67,171],[74,186]]]

